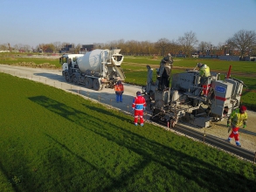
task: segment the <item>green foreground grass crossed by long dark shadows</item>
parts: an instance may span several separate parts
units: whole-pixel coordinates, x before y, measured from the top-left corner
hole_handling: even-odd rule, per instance
[[[1,191],[256,191],[256,167],[133,117],[0,73]]]

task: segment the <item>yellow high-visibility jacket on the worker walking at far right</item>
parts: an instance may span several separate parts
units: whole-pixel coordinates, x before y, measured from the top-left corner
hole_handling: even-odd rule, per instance
[[[237,109],[231,113],[231,115],[227,121],[229,124],[230,123],[232,124],[232,127],[240,127],[242,125],[246,125],[247,118],[248,118],[248,116],[247,116],[246,112],[240,113],[239,109]]]

